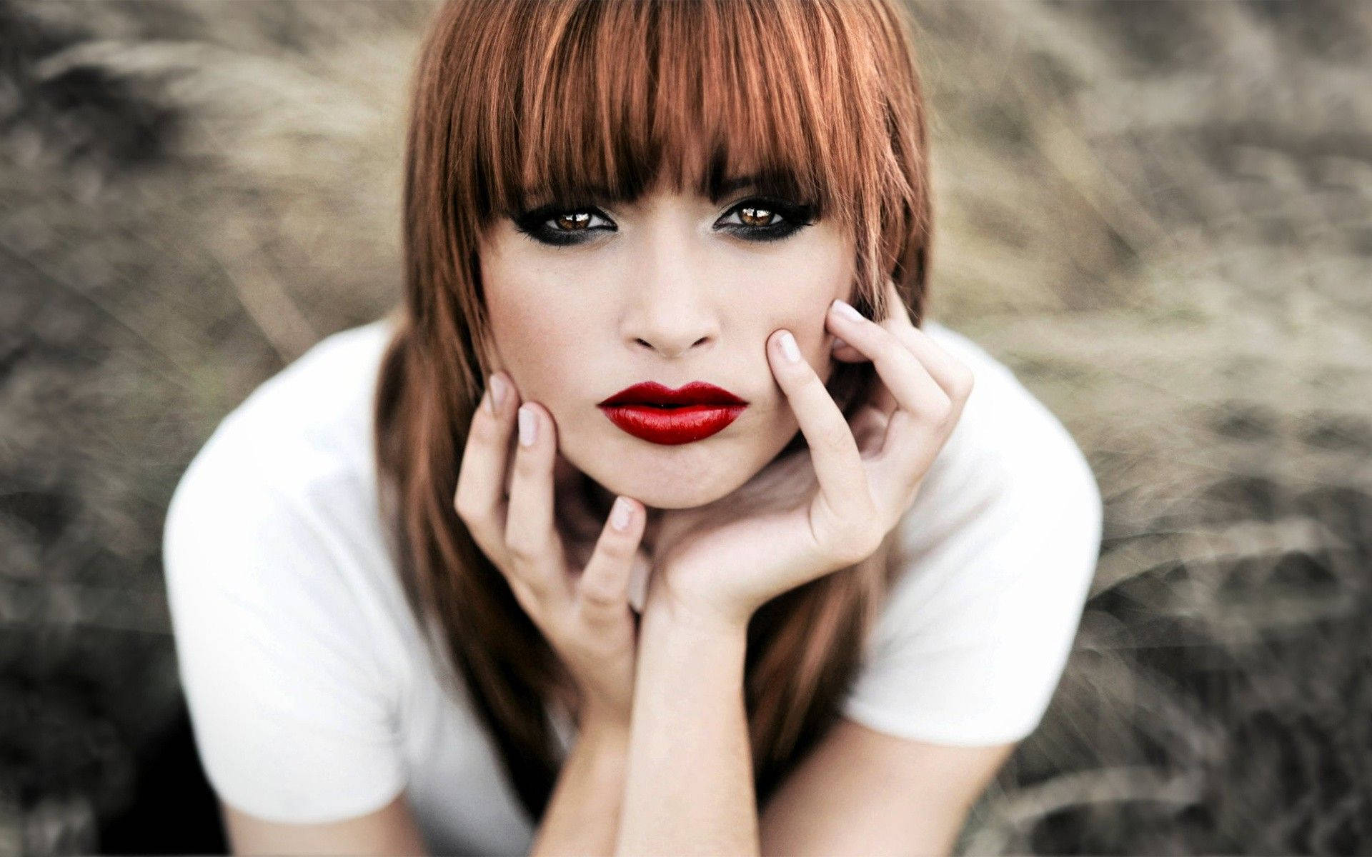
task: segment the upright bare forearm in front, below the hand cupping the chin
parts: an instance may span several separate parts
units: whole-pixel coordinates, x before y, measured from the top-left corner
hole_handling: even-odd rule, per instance
[[[616,854],[757,854],[746,627],[643,614]]]

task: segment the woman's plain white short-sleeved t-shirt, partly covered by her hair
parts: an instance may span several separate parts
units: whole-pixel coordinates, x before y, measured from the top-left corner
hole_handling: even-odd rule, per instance
[[[1008,369],[925,329],[975,387],[901,520],[910,566],[842,712],[904,738],[1011,742],[1072,646],[1100,494]],[[218,797],[262,819],[333,821],[405,790],[435,853],[528,853],[534,828],[465,690],[443,692],[383,536],[372,394],[390,332],[329,336],[262,384],[176,490],[163,553],[196,745]]]

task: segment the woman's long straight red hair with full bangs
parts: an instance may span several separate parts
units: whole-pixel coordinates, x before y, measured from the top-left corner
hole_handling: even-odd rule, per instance
[[[534,820],[557,775],[543,706],[568,676],[453,509],[488,373],[479,237],[532,197],[634,199],[659,181],[715,196],[745,176],[848,230],[859,310],[885,314],[890,277],[919,324],[925,108],[889,0],[477,0],[432,21],[406,144],[406,296],[377,391],[379,474],[410,605]],[[838,363],[829,388],[851,415],[873,381],[870,363]],[[759,801],[837,719],[896,568],[878,551],[753,616]]]

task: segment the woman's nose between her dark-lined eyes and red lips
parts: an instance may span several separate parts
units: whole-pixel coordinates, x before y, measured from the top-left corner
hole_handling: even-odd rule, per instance
[[[709,276],[689,240],[664,237],[645,247],[628,280],[622,319],[626,344],[675,359],[719,340],[719,311]]]

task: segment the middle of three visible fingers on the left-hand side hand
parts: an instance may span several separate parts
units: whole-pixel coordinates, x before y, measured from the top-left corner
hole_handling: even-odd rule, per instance
[[[516,417],[519,443],[505,518],[510,573],[542,598],[565,599],[571,590],[563,540],[553,524],[553,458],[557,454],[553,417],[532,402],[520,405]]]

